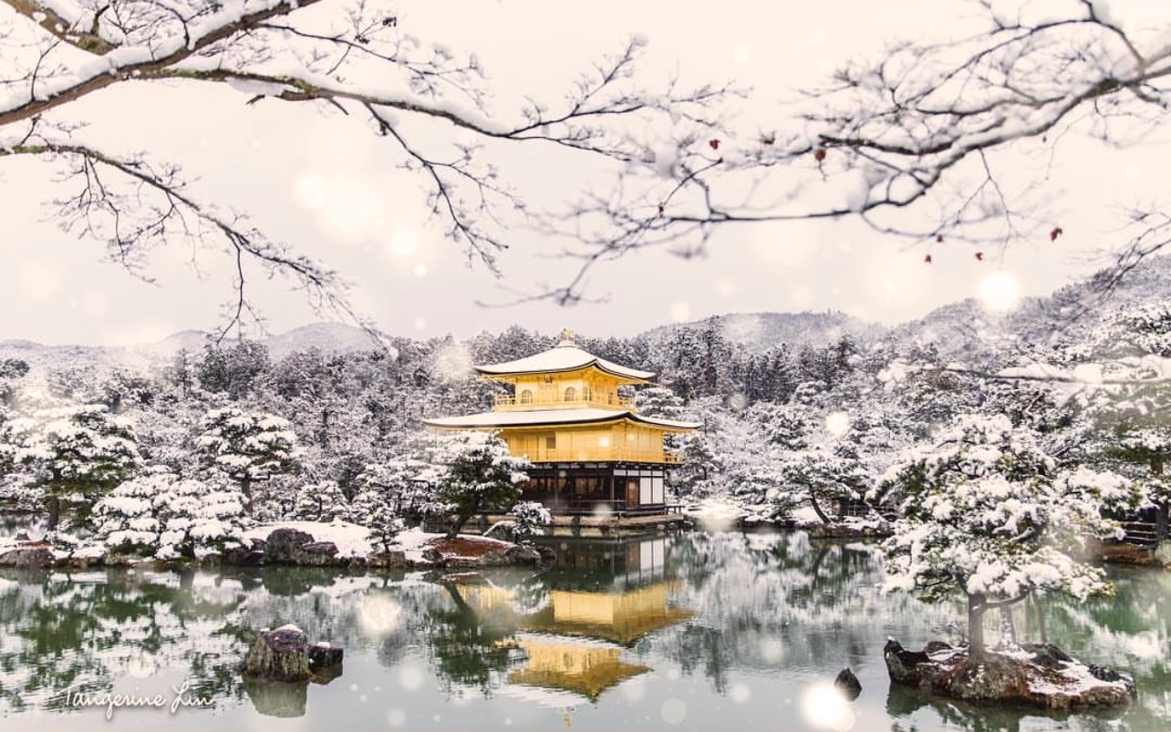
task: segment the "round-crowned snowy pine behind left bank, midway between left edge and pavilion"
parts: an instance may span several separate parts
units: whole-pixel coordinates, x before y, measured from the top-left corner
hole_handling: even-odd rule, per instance
[[[249,511],[253,483],[297,467],[301,450],[282,417],[226,406],[207,412],[200,427],[196,446],[207,465],[240,483]]]

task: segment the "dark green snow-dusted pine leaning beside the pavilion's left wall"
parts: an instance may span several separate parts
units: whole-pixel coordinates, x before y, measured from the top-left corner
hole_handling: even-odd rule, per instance
[[[437,438],[432,459],[444,467],[437,498],[456,514],[450,538],[478,513],[512,508],[528,480],[527,458],[511,454],[494,432],[443,432]]]

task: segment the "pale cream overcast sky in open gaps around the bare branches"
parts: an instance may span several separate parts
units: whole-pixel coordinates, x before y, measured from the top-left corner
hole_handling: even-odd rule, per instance
[[[749,114],[762,121],[783,115],[778,100],[816,83],[836,62],[898,35],[946,34],[971,12],[963,2],[923,0],[461,0],[399,8],[400,27],[424,42],[480,55],[499,90],[498,109],[525,94],[556,95],[576,70],[638,32],[650,40],[649,78],[676,63],[686,78],[735,78],[754,88]],[[9,18],[0,8],[0,22]],[[183,164],[198,176],[194,190],[205,198],[231,201],[275,238],[335,266],[355,283],[359,309],[393,335],[464,337],[520,323],[546,333],[571,327],[625,336],[712,314],[806,309],[897,322],[978,294],[998,271],[1025,294],[1046,294],[1093,269],[1084,253],[1105,244],[1117,225],[1107,206],[1171,191],[1171,172],[1160,163],[1171,159],[1164,142],[1108,151],[1067,141],[1053,170],[1054,190],[1062,192],[1054,224],[1066,232],[1056,244],[1043,235],[1014,242],[1002,258],[982,264],[971,249],[937,248],[926,266],[922,249],[908,251],[856,223],[741,227],[720,232],[703,259],[643,252],[598,269],[590,292],[608,295],[603,303],[481,308],[477,300],[507,295],[489,273],[468,269],[459,249],[427,223],[418,179],[395,170],[385,141],[337,114],[275,101],[246,107],[246,100],[227,87],[176,82],[115,87],[80,109],[91,125],[85,135]],[[563,183],[583,173],[542,175]],[[189,252],[162,249],[151,269],[158,285],[133,280],[103,261],[100,242],[56,228],[43,204],[62,192],[44,164],[0,164],[0,340],[121,344],[214,327],[230,295],[214,260],[201,260],[200,280]],[[566,264],[552,253],[540,238],[516,232],[501,262],[504,285],[557,281]],[[279,283],[262,283],[256,294],[273,333],[316,320]]]

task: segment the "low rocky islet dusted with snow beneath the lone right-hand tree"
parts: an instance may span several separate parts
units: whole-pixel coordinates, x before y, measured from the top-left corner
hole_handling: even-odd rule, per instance
[[[967,648],[932,642],[922,651],[909,651],[891,638],[883,658],[892,683],[965,702],[1069,710],[1125,704],[1136,696],[1130,676],[1082,664],[1048,643],[970,658]]]

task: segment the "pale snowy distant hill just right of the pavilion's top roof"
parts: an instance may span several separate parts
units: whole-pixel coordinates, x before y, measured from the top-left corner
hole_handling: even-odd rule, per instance
[[[767,350],[781,343],[790,348],[806,344],[821,346],[837,341],[843,335],[850,335],[861,344],[869,344],[882,337],[888,330],[885,326],[840,313],[732,313],[717,315],[713,319],[689,323],[660,326],[648,330],[644,335],[651,341],[665,341],[682,328],[703,329],[708,321],[719,324],[724,340],[731,344],[748,350]]]

